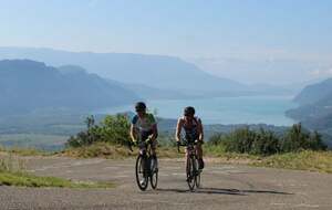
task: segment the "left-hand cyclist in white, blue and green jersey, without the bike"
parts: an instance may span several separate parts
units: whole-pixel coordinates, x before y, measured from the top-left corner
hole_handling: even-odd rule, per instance
[[[134,143],[142,140],[151,144],[152,157],[156,159],[158,128],[155,117],[146,112],[144,102],[137,102],[135,111],[136,115],[133,117],[131,125],[131,138]]]

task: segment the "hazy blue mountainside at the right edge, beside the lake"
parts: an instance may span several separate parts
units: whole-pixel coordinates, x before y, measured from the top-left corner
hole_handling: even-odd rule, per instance
[[[332,78],[304,87],[294,101],[300,106],[288,116],[312,129],[332,130]]]

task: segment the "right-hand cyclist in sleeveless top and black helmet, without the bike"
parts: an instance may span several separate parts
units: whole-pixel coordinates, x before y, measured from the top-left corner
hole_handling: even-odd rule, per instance
[[[184,128],[187,140],[195,140],[196,144],[196,154],[198,157],[199,169],[204,168],[203,161],[203,149],[201,145],[204,144],[204,132],[203,124],[200,118],[195,116],[195,108],[193,106],[188,106],[184,109],[184,116],[178,118],[176,126],[176,136],[175,139],[179,144],[181,138],[181,129]],[[187,157],[188,153],[186,153]]]

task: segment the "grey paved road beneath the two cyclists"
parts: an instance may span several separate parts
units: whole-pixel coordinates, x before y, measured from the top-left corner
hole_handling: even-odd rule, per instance
[[[29,158],[37,175],[113,181],[114,189],[0,187],[0,209],[332,209],[332,175],[207,162],[190,192],[180,160],[159,162],[158,190],[138,190],[134,159]]]

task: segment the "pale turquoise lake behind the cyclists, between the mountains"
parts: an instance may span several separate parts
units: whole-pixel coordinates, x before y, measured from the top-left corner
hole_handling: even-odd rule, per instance
[[[194,106],[204,124],[271,124],[291,125],[293,119],[284,112],[297,107],[292,96],[241,96],[198,99],[152,99],[146,101],[151,112],[166,118],[178,118],[184,107]],[[134,105],[112,107],[102,113],[115,114],[133,111]]]

